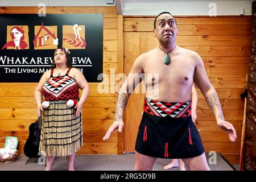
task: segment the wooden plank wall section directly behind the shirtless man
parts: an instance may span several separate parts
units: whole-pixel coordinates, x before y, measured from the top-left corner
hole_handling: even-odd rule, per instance
[[[231,163],[238,164],[244,106],[240,94],[244,92],[245,77],[248,72],[250,16],[177,17],[176,20],[179,30],[177,45],[192,49],[202,57],[210,81],[220,97],[224,117],[226,121],[233,123],[237,130],[237,140],[232,143],[228,135],[216,125],[203,94],[197,88],[199,101],[196,127],[200,129],[205,151],[221,152]],[[127,69],[124,68],[125,73],[129,72],[138,55],[158,46],[158,41],[152,33],[153,22],[154,18],[141,16],[124,18],[123,64],[127,65]],[[137,97],[135,100],[139,98],[132,97]],[[130,102],[127,105],[131,105]],[[142,108],[139,111],[135,110],[139,115]],[[127,125],[130,126],[137,118],[127,115],[129,115],[127,122],[130,122]],[[128,131],[125,133],[125,138],[126,136],[129,138],[130,135],[132,133]]]

